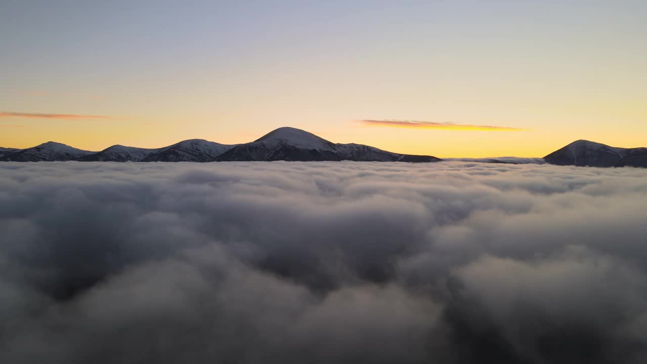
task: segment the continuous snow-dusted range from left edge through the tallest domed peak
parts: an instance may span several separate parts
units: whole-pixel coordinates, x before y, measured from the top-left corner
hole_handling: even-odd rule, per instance
[[[220,144],[190,139],[164,148],[113,145],[100,152],[80,150],[58,142],[26,149],[0,148],[0,161],[107,161],[107,162],[211,162],[211,161],[380,161],[437,162],[431,155],[387,152],[363,144],[340,144],[296,128],[278,128],[253,142]]]

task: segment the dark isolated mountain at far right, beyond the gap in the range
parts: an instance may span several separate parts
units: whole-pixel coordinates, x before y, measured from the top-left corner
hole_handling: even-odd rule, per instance
[[[647,167],[647,148],[617,148],[579,140],[544,157],[552,165]]]

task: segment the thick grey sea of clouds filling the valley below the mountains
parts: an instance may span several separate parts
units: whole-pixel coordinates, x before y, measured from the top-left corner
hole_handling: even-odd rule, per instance
[[[647,170],[1,163],[1,363],[645,363]]]

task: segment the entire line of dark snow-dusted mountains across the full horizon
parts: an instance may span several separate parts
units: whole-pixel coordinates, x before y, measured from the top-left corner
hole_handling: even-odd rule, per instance
[[[549,163],[552,165],[647,168],[647,148],[617,148],[591,141],[575,141],[542,158],[449,159],[479,163]],[[215,161],[379,161],[437,162],[431,155],[387,152],[364,144],[327,141],[308,131],[278,128],[256,141],[220,144],[190,139],[164,148],[113,145],[100,152],[80,150],[58,142],[26,149],[0,148],[0,161],[215,162]]]

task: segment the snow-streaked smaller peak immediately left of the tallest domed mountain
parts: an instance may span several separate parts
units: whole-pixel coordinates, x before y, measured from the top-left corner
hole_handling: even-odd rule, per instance
[[[160,148],[159,150],[146,155],[144,162],[208,162],[218,155],[234,148],[238,144],[228,145],[217,142],[205,141],[204,139],[190,139],[177,144]]]

